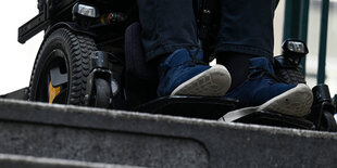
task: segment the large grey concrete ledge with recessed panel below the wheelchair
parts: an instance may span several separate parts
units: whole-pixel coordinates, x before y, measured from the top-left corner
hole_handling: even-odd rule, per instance
[[[0,100],[0,153],[146,167],[337,167],[337,134]]]

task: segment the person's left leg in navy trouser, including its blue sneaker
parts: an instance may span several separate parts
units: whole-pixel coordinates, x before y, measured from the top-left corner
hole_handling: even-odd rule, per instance
[[[159,62],[159,95],[223,95],[230,76],[222,66],[200,65],[192,0],[138,0],[147,61]]]

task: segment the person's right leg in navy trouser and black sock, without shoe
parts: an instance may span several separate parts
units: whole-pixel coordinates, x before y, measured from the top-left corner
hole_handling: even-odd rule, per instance
[[[221,0],[217,62],[232,75],[230,89],[245,81],[252,56],[271,59],[274,49],[274,11],[278,0]],[[237,70],[237,66],[241,67]]]

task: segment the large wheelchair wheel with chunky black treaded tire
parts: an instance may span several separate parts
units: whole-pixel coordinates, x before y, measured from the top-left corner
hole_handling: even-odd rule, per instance
[[[84,104],[89,56],[95,41],[66,28],[53,31],[42,42],[33,68],[29,101]]]

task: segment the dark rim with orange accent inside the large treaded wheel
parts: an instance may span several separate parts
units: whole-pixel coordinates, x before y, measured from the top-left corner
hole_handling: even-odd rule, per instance
[[[67,104],[70,85],[66,55],[55,49],[47,57],[37,81],[36,101]]]

